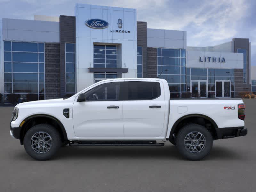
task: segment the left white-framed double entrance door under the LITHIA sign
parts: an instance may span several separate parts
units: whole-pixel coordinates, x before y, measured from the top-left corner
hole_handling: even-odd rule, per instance
[[[193,98],[207,97],[207,81],[191,81],[191,95]]]

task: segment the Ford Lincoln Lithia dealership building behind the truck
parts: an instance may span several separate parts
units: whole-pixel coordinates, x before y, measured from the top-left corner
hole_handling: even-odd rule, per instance
[[[249,39],[188,47],[187,32],[147,28],[136,9],[76,4],[75,16],[0,20],[0,93],[68,97],[108,78],[163,78],[172,98],[251,92]],[[256,84],[255,84],[256,85]]]

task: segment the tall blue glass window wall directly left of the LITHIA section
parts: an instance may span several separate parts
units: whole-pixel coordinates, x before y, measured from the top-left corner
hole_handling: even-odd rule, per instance
[[[167,80],[171,98],[186,92],[186,50],[157,48],[157,76]]]

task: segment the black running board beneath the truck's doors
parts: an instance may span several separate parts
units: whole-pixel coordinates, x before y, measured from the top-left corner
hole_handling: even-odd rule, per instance
[[[78,146],[164,146],[164,143],[69,143],[69,146],[78,147]]]

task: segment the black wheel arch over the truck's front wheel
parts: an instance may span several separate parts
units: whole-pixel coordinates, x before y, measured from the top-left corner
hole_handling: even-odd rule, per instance
[[[60,132],[61,140],[68,140],[66,129],[59,119],[48,114],[36,114],[28,116],[22,120],[20,124],[20,144],[23,144],[23,139],[28,129],[36,124],[41,123],[48,123],[53,125],[58,130],[58,132]]]

